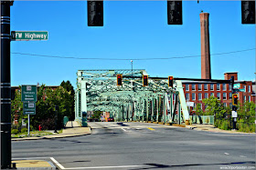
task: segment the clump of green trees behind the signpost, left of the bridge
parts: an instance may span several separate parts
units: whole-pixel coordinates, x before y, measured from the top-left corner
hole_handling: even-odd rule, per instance
[[[65,115],[71,117],[73,110],[73,96],[71,91],[67,91],[63,86],[57,89],[41,85],[37,88],[36,115],[30,115],[30,125],[38,128],[42,125],[43,129],[54,129],[54,118],[56,115],[55,106],[59,106],[58,110],[58,128],[63,126],[63,117]],[[22,124],[22,119],[27,118],[23,115],[23,103],[21,102],[20,90],[16,91],[16,98],[12,101],[12,120],[18,117],[18,127]]]

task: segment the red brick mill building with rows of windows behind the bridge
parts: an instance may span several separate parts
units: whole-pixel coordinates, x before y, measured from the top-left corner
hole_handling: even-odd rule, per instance
[[[245,92],[238,92],[239,102],[241,104],[245,101],[255,102],[255,92],[252,90],[252,84],[255,85],[255,83],[238,80],[237,72],[224,74],[225,80],[229,80],[231,76],[234,76],[235,84],[240,84],[240,89],[245,89]],[[205,105],[202,104],[202,100],[211,95],[218,97],[224,106],[232,105],[232,92],[229,84],[211,82],[183,82],[182,84],[187,102],[194,102],[194,107],[190,108],[191,110],[194,110],[197,104],[201,104],[201,108],[204,110]]]

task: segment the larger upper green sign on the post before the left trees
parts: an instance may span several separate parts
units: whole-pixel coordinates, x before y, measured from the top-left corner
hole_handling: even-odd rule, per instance
[[[37,102],[37,85],[22,85],[21,101]]]

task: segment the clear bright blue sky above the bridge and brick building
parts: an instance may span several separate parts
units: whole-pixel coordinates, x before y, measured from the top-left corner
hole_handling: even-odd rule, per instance
[[[167,25],[166,1],[104,1],[104,26],[87,26],[86,1],[15,1],[11,31],[48,31],[48,41],[11,42],[12,53],[88,58],[165,58],[200,55],[199,14],[209,13],[211,74],[255,79],[255,25],[241,25],[240,1],[183,1],[183,25]],[[76,60],[11,55],[12,85],[76,87],[80,69],[131,69],[130,60]],[[152,76],[201,76],[200,56],[133,61]]]

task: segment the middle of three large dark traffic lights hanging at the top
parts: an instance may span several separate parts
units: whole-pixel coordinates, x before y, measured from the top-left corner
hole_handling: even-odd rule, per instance
[[[182,1],[167,0],[168,25],[182,25]]]

